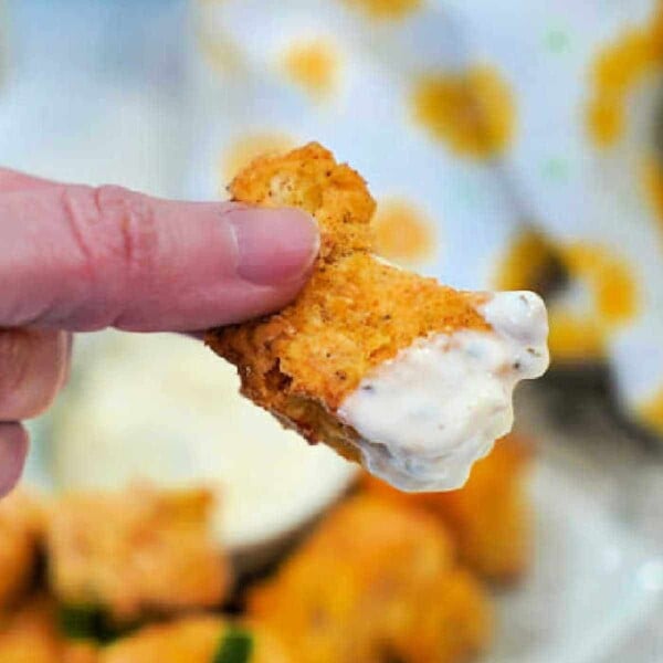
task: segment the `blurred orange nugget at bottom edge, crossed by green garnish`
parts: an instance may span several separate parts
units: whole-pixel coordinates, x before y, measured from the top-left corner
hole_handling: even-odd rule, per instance
[[[99,663],[211,663],[228,629],[228,621],[211,614],[147,627],[107,648]],[[264,628],[246,629],[253,636],[251,663],[294,661]]]

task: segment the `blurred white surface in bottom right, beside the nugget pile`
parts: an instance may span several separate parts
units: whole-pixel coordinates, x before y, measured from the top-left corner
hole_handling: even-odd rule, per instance
[[[536,469],[535,564],[516,591],[497,598],[497,638],[482,663],[601,661],[661,604],[663,557],[569,478],[569,462]]]

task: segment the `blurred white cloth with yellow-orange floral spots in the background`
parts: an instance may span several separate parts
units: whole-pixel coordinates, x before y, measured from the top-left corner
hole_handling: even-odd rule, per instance
[[[366,173],[380,250],[549,295],[557,364],[609,361],[663,433],[663,4],[207,0],[190,191],[317,139]]]

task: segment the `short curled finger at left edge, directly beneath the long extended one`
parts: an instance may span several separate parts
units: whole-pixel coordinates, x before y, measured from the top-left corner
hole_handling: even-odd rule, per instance
[[[0,421],[41,414],[66,379],[69,355],[66,332],[0,330]]]

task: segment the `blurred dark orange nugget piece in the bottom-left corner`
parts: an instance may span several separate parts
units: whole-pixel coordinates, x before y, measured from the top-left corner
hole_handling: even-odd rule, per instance
[[[69,642],[56,628],[55,604],[45,596],[29,599],[0,617],[2,663],[95,663],[96,646]]]

